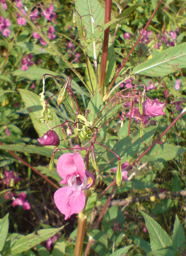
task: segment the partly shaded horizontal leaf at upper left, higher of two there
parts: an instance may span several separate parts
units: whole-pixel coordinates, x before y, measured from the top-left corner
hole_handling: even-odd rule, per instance
[[[23,51],[27,53],[33,53],[33,54],[50,54],[50,55],[56,55],[55,51],[51,51],[47,49],[46,47],[41,47],[40,45],[33,44],[30,42],[17,42],[17,46],[21,47]]]

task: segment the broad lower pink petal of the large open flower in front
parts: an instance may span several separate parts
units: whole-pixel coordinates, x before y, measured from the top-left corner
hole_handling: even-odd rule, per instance
[[[72,214],[80,213],[85,205],[85,195],[81,187],[72,188],[65,186],[58,189],[54,194],[54,201],[62,214],[65,214],[65,220]]]

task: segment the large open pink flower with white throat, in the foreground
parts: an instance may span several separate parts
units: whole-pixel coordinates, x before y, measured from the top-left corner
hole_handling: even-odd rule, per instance
[[[68,184],[54,194],[54,202],[66,220],[84,208],[85,195],[82,191],[93,186],[95,178],[85,170],[84,160],[78,152],[63,154],[58,159],[57,172],[62,177],[60,183]]]

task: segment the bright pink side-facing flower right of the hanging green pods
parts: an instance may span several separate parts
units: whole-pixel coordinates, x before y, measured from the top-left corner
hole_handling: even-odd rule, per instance
[[[164,115],[165,103],[159,102],[158,99],[148,99],[142,103],[143,116],[161,116]]]

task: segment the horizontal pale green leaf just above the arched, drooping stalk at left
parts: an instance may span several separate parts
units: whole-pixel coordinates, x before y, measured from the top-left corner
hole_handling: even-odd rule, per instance
[[[25,79],[29,79],[29,80],[40,80],[43,78],[44,74],[52,74],[52,75],[58,76],[58,73],[56,73],[56,72],[38,68],[37,66],[29,67],[29,69],[27,69],[26,71],[24,71],[22,69],[18,69],[13,72],[13,75],[18,76],[19,78],[25,78]],[[46,78],[48,78],[48,77],[50,77],[50,76],[46,76]],[[29,92],[31,92],[31,91],[29,91]]]

